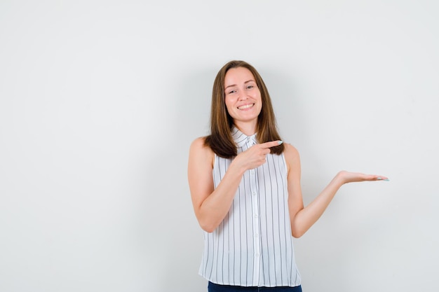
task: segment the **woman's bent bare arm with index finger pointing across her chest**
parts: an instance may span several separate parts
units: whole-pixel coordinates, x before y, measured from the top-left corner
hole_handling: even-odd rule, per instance
[[[240,153],[231,162],[217,188],[213,185],[215,155],[212,149],[204,145],[204,138],[198,138],[191,144],[187,174],[195,216],[203,230],[212,232],[218,227],[231,207],[244,172],[264,164],[269,148],[279,143],[257,144]]]

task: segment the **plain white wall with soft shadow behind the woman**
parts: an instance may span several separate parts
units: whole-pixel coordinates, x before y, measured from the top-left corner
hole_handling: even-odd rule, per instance
[[[0,2],[0,291],[207,291],[187,154],[229,60],[266,81],[306,292],[438,291],[437,1]],[[178,287],[178,288],[177,288]]]

